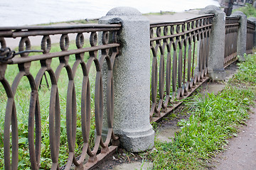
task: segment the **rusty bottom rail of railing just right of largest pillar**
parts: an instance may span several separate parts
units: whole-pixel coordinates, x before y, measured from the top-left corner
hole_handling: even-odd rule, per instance
[[[191,96],[191,94],[193,93],[193,91],[195,91],[196,89],[198,89],[199,86],[201,86],[201,84],[203,84],[204,82],[208,81],[209,77],[205,77],[203,78],[201,81],[199,81],[195,87],[193,87],[193,89],[191,89],[191,91],[188,91],[188,94],[186,95],[185,98],[187,98],[188,96]],[[184,98],[182,98],[184,99]],[[183,103],[183,101],[178,101],[177,103],[174,103],[173,106],[168,106],[167,107],[167,111],[164,113],[161,113],[161,117],[157,117],[157,118],[152,118],[152,122],[159,122],[161,121],[164,117],[166,117],[166,115],[169,115],[171,113],[171,111],[174,111],[175,108],[177,108],[178,106],[181,105],[181,103]]]

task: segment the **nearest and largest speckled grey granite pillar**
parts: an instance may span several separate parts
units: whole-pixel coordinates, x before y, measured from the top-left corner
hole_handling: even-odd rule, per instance
[[[149,20],[135,8],[113,8],[99,23],[121,23],[122,49],[114,61],[114,133],[130,152],[154,146],[149,122],[150,39]]]

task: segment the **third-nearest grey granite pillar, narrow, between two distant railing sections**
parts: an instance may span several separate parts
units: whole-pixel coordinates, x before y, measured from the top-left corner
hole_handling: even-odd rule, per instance
[[[235,11],[231,16],[240,18],[238,30],[238,55],[240,61],[245,61],[243,57],[246,54],[246,36],[247,36],[247,17],[241,11]]]

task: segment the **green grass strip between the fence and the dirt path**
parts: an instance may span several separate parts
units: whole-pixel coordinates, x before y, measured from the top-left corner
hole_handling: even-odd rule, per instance
[[[191,116],[178,123],[181,130],[173,142],[156,140],[156,149],[147,155],[154,169],[206,169],[210,159],[228,145],[228,138],[237,136],[238,127],[249,118],[256,96],[255,64],[256,55],[249,55],[222,92],[208,97],[198,94],[185,102]]]

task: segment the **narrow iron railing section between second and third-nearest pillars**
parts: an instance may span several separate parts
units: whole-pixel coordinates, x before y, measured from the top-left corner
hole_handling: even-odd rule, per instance
[[[224,66],[235,62],[237,57],[239,18],[227,16],[225,19],[225,55]]]

